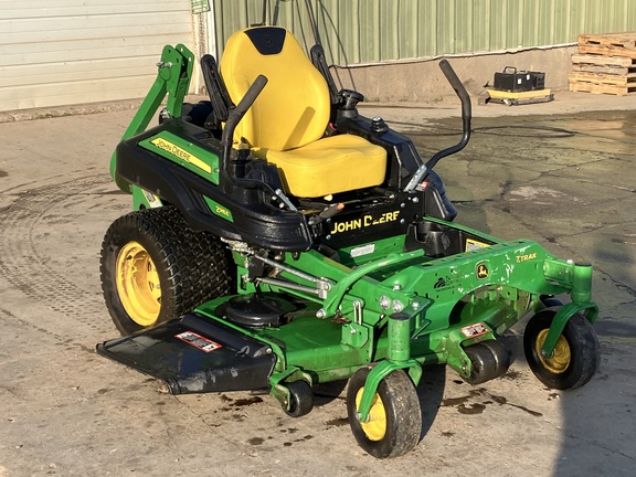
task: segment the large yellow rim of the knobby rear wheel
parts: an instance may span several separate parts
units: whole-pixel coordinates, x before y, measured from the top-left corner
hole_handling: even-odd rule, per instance
[[[150,254],[137,242],[128,242],[116,265],[117,293],[124,309],[137,325],[155,325],[161,310],[161,285]]]

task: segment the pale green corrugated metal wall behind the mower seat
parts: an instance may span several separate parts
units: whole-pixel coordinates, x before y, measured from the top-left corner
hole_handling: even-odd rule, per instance
[[[212,0],[219,54],[262,20],[262,0]],[[310,0],[328,61],[338,65],[573,43],[583,33],[636,31],[636,0]],[[314,35],[305,0],[269,0],[267,22]]]

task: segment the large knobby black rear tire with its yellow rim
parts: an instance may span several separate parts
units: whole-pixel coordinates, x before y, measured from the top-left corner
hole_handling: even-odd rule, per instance
[[[176,208],[131,212],[113,222],[102,244],[106,307],[124,336],[179,318],[231,293],[231,263],[219,237],[192,231]]]

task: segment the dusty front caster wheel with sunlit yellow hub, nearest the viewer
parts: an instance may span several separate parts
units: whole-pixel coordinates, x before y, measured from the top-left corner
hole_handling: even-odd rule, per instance
[[[349,380],[347,412],[351,432],[360,447],[373,457],[404,455],[417,445],[422,432],[422,410],[415,386],[404,371],[393,371],[380,382],[369,420],[360,422],[358,407],[370,370],[361,368]]]

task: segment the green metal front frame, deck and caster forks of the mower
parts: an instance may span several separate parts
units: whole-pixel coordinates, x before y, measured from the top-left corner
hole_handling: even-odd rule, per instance
[[[392,237],[377,243],[380,250],[390,244],[401,247],[403,240]],[[596,305],[590,300],[591,267],[559,261],[529,241],[500,242],[446,258],[426,257],[422,251],[395,252],[380,258],[371,256],[357,268],[314,251],[294,257],[288,254],[285,258],[284,265],[329,283],[325,298],[286,287],[284,283],[261,284],[258,288],[314,301],[316,317],[321,319],[297,318],[285,327],[262,330],[245,330],[225,322],[272,347],[277,357],[271,379],[272,394],[283,406],[289,405],[286,382],[346,379],[360,367],[377,363],[369,373],[360,403],[360,418],[364,421],[378,385],[395,370],[406,370],[415,385],[422,367],[431,363],[447,363],[462,377],[469,377],[471,363],[464,348],[496,339],[522,316],[542,308],[540,295],[570,293],[575,300],[556,314],[543,348],[545,356],[554,349],[555,340],[549,341],[552,335],[558,339],[574,314],[582,311],[592,322],[597,316]],[[247,275],[243,267],[250,259],[253,258],[237,254],[240,277]],[[488,279],[477,276],[480,264],[488,265]],[[431,293],[436,277],[452,275],[457,275],[460,283]],[[282,272],[280,278],[292,285],[309,283],[289,272]],[[404,285],[396,286],[400,284]],[[240,293],[255,289],[254,284],[245,285]],[[403,306],[399,310],[384,309],[381,305],[384,297],[391,306],[395,303]],[[222,320],[214,310],[226,299],[213,300],[198,311]],[[465,306],[455,316],[456,305],[462,300]],[[449,322],[451,316],[455,316],[455,324]],[[475,324],[487,331],[476,338],[465,336],[462,329]]]

